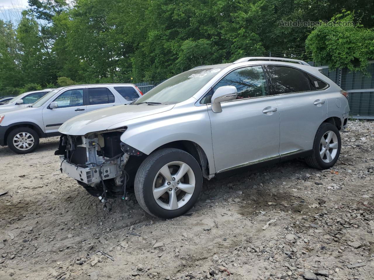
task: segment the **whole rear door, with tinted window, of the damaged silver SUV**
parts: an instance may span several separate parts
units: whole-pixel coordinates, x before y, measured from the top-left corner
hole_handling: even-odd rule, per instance
[[[327,118],[324,92],[316,90],[306,73],[296,67],[267,65],[267,71],[280,111],[281,157],[311,150],[316,131]]]

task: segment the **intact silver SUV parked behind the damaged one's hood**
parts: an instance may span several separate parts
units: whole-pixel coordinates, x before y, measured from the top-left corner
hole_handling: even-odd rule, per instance
[[[134,84],[57,88],[26,108],[5,113],[0,109],[0,145],[7,145],[19,154],[34,152],[39,138],[59,135],[58,128],[68,119],[85,112],[124,105],[141,95]]]

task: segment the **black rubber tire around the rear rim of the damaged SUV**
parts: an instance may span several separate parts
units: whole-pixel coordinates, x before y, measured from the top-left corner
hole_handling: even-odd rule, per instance
[[[329,163],[326,163],[326,162],[322,161],[322,158],[319,155],[320,141],[322,139],[322,136],[324,136],[327,133],[327,131],[333,131],[336,134],[337,139],[338,139],[337,154],[336,154],[335,158],[331,162],[329,162]],[[333,167],[335,165],[336,161],[339,158],[340,149],[341,149],[341,139],[340,139],[340,133],[339,133],[338,128],[335,125],[333,125],[333,124],[330,124],[328,122],[324,122],[324,123],[322,123],[319,126],[319,128],[317,130],[317,133],[316,133],[316,136],[314,137],[312,155],[306,157],[305,158],[305,162],[310,167],[316,168],[316,169],[328,169],[328,168],[331,168],[331,167]]]

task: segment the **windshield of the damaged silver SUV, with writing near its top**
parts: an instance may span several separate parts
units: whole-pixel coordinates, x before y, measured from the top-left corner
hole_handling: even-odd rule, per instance
[[[211,68],[200,68],[183,72],[152,88],[133,104],[154,102],[165,105],[183,102],[196,94],[208,81],[226,67],[227,65],[212,65]]]

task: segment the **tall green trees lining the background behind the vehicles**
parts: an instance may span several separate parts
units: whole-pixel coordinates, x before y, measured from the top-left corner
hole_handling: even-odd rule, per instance
[[[160,81],[194,66],[243,56],[288,50],[295,57],[292,50],[305,47],[309,33],[312,42],[322,29],[280,27],[279,22],[330,20],[342,8],[355,10],[365,28],[374,27],[372,0],[28,2],[20,22],[0,21],[0,94],[20,92],[30,83],[47,87],[69,81],[63,77],[77,83]],[[350,40],[360,42],[371,34],[362,27],[323,32],[341,40],[348,32]],[[368,46],[356,48],[364,53]],[[358,53],[353,47],[348,51],[346,56]],[[365,57],[359,57],[363,62]]]

